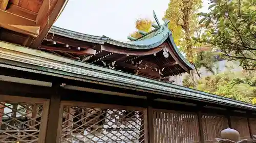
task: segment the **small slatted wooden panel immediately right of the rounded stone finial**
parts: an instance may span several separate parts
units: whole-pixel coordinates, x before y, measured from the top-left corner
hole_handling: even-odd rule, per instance
[[[239,132],[241,139],[251,138],[247,118],[231,117],[231,127]]]

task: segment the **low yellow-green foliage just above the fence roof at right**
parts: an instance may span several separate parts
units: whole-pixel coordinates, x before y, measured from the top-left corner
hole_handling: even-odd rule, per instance
[[[250,75],[244,72],[225,72],[207,76],[195,85],[188,77],[183,80],[183,85],[200,91],[256,104],[256,87],[246,83],[236,83],[236,78],[248,78]],[[256,80],[256,77],[253,77]]]

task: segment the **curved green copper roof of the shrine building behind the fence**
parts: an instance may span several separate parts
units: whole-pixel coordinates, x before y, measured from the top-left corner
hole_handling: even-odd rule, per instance
[[[174,43],[174,39],[172,36],[172,32],[169,31],[167,27],[167,22],[160,27],[156,28],[152,32],[147,33],[146,35],[138,38],[134,41],[117,41],[105,36],[93,36],[88,34],[81,34],[69,30],[65,30],[60,27],[53,26],[50,30],[50,33],[54,33],[56,35],[77,39],[81,41],[96,43],[96,44],[112,44],[118,47],[130,48],[133,50],[148,50],[153,49],[160,46],[165,41],[168,41],[173,45],[174,51],[179,55],[180,59],[190,68],[195,69],[193,65],[191,65],[181,54],[178,47]]]

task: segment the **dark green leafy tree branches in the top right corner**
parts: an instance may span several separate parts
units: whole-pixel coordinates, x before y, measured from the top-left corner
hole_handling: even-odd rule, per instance
[[[228,60],[240,61],[247,70],[256,69],[256,1],[211,1],[209,13],[203,16],[207,34],[202,43],[211,44]]]

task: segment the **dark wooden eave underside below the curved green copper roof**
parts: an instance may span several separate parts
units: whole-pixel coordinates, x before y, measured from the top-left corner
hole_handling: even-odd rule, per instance
[[[189,66],[186,66],[186,63],[180,60],[179,55],[175,51],[172,54],[169,53],[168,58],[164,57],[163,49],[169,47],[168,41],[156,48],[135,50],[116,47],[108,43],[98,44],[75,40],[56,34],[54,37],[51,37],[53,36],[51,34],[48,36],[52,38],[52,41],[44,41],[39,49],[99,66],[104,66],[104,63],[111,64],[115,62],[115,69],[123,70],[124,72],[135,74],[136,70],[139,70],[139,75],[159,79],[189,72],[189,70],[191,70]],[[58,49],[53,49],[54,47]],[[94,49],[95,54],[81,52],[86,49]],[[141,69],[137,69],[136,66],[138,65],[136,65],[136,63],[139,63],[141,60]],[[145,69],[145,66],[148,66],[148,68]],[[105,67],[109,66],[106,65]],[[163,71],[159,74],[159,70],[161,69],[163,69]]]

